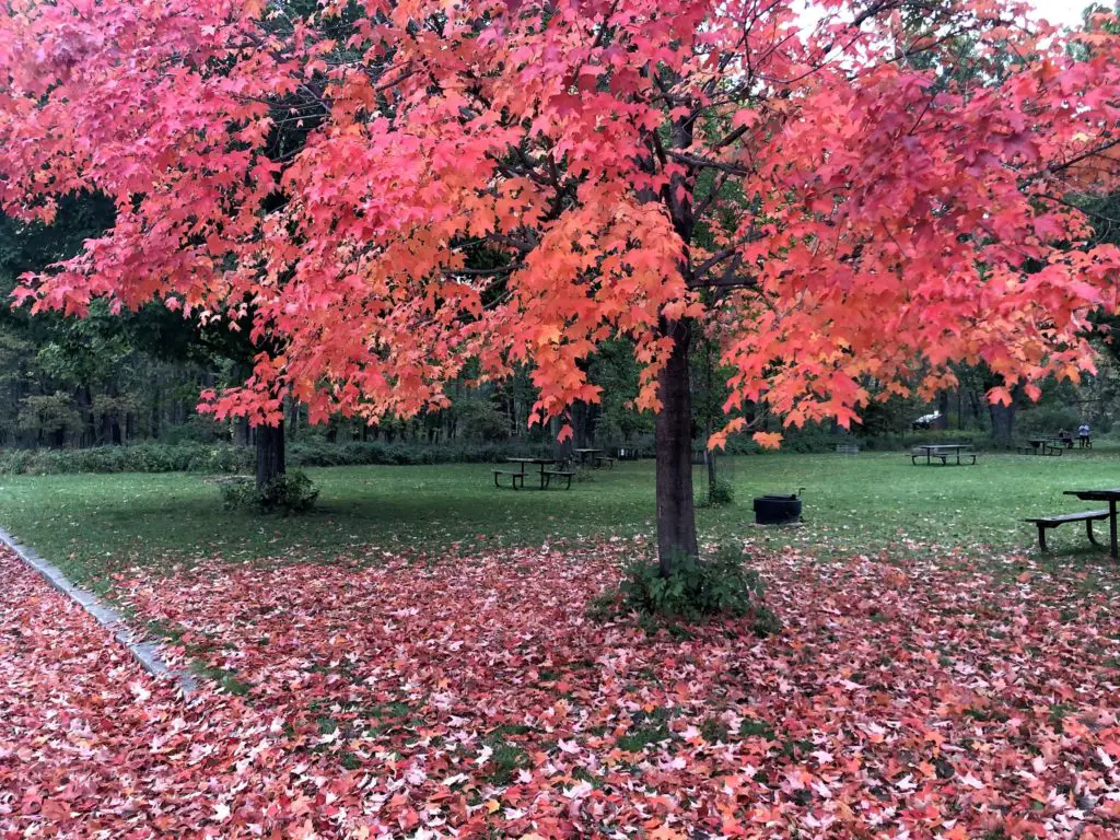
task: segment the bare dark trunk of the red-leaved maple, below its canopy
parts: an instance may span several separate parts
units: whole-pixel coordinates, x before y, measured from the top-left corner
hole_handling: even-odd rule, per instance
[[[668,326],[668,329],[666,329]],[[657,556],[669,576],[679,556],[696,559],[697,523],[692,507],[692,400],[689,393],[688,321],[663,325],[673,337],[673,352],[657,379],[661,411],[657,442]]]

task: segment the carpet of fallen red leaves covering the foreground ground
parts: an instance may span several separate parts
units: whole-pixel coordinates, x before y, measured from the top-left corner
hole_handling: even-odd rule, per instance
[[[187,700],[0,551],[0,833],[1116,837],[1107,569],[790,552],[674,638],[584,617],[634,551],[130,573]]]

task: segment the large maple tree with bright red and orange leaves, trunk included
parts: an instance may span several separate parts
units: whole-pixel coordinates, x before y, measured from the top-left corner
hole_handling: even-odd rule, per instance
[[[847,424],[872,383],[930,392],[954,361],[1028,392],[1076,376],[1088,312],[1116,308],[1120,252],[1071,200],[1116,175],[1103,18],[1062,37],[1001,0],[10,9],[0,207],[118,206],[21,299],[251,316],[255,370],[211,408],[263,423],[284,396],[312,419],[441,407],[474,360],[531,365],[534,418],[562,416],[625,335],[660,410],[666,571],[697,553],[697,330],[732,414]]]

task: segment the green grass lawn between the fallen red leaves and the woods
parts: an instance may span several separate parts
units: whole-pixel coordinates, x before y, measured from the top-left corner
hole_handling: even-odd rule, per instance
[[[1120,455],[1100,450],[1061,458],[981,455],[977,466],[967,467],[915,467],[902,452],[780,452],[722,464],[736,502],[699,511],[702,539],[746,536],[828,554],[889,545],[1029,550],[1035,531],[1020,522],[1024,516],[1092,506],[1063,497],[1064,489],[1120,485]],[[0,524],[96,588],[115,569],[213,556],[329,561],[370,557],[377,549],[433,551],[460,543],[487,550],[653,531],[652,461],[589,472],[570,492],[495,489],[491,469],[485,464],[312,469],[320,504],[309,515],[288,519],[225,511],[217,488],[192,474],[2,476]],[[698,486],[702,479],[698,468]],[[799,487],[804,487],[803,526],[753,526],[752,496]],[[1102,536],[1103,531],[1099,528]],[[1089,548],[1080,524],[1052,534],[1060,553]]]

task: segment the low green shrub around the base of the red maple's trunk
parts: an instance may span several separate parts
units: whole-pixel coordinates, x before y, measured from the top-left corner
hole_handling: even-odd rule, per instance
[[[777,619],[762,601],[762,579],[746,567],[743,548],[722,545],[699,562],[674,558],[668,577],[656,564],[637,560],[626,568],[618,588],[596,598],[589,612],[605,617],[620,608],[646,619],[690,623],[712,616],[750,617],[756,633],[769,635],[777,631]]]

